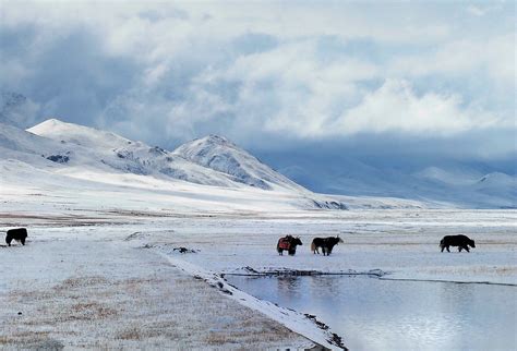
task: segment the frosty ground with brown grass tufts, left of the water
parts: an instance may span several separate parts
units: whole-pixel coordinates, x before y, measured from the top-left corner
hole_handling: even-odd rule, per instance
[[[53,230],[32,232],[24,247],[0,247],[2,349],[314,346],[154,252],[109,238],[49,240]]]

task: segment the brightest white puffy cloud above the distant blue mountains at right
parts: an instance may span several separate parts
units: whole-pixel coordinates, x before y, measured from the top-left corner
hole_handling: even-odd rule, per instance
[[[402,132],[449,136],[492,128],[498,122],[485,111],[461,107],[458,96],[426,93],[418,97],[407,82],[390,80],[346,111],[333,130],[344,134]]]

